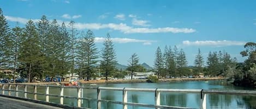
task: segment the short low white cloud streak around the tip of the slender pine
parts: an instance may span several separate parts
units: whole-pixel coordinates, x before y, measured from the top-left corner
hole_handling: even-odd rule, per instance
[[[104,42],[105,38],[104,37],[95,37],[94,41],[96,43],[101,43]],[[128,39],[128,38],[111,38],[111,40],[115,43],[142,43],[144,45],[150,45],[152,42],[156,41],[151,41],[151,40],[137,40],[137,39]]]

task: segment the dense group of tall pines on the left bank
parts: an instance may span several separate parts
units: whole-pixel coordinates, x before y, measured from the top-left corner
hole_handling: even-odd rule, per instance
[[[104,48],[98,50],[93,31],[79,34],[74,24],[59,24],[42,16],[38,22],[29,20],[24,28],[18,24],[9,28],[0,9],[0,68],[14,70],[28,81],[68,73],[89,80],[101,69],[108,80],[117,62],[110,35],[106,35]]]

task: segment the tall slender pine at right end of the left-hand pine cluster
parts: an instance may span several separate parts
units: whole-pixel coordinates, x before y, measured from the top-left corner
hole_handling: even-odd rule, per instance
[[[105,72],[106,80],[108,80],[108,76],[114,71],[117,63],[114,44],[109,34],[106,35],[101,57],[100,68]]]

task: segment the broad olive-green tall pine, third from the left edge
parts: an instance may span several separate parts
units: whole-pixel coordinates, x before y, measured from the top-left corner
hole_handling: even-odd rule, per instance
[[[32,20],[26,24],[25,35],[21,37],[21,48],[19,60],[23,65],[28,77],[28,82],[31,78],[40,72],[37,72],[40,58],[40,46],[38,32]]]

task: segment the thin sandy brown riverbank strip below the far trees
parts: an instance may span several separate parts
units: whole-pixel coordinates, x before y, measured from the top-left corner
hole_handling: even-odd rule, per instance
[[[225,78],[175,78],[175,79],[159,79],[159,82],[181,82],[181,81],[211,81],[211,80],[224,80]],[[82,84],[126,84],[126,83],[145,83],[147,79],[134,79],[134,80],[79,80]],[[63,81],[61,84],[68,84],[68,81]],[[15,84],[15,83],[13,83]],[[59,82],[26,82],[20,84],[27,85],[59,85]]]

